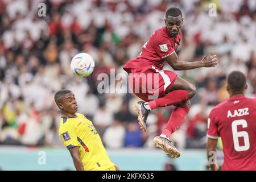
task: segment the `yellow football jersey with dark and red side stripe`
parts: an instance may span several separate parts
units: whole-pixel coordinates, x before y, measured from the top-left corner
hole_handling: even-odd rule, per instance
[[[76,113],[76,117],[62,117],[59,134],[68,149],[79,146],[80,159],[86,171],[103,171],[114,166],[93,123],[83,114]]]

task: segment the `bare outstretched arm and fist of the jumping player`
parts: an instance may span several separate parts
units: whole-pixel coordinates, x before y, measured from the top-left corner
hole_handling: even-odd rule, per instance
[[[179,61],[177,54],[174,52],[170,56],[167,56],[163,59],[168,64],[171,65],[174,70],[185,70],[185,69],[195,69],[201,67],[215,67],[217,65],[217,57],[216,55],[213,56],[204,56],[201,61]]]

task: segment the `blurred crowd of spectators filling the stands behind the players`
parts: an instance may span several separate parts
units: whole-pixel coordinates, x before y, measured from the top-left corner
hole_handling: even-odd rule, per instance
[[[38,11],[46,5],[46,16]],[[218,65],[175,71],[196,85],[197,94],[183,125],[172,135],[178,148],[205,146],[210,109],[226,100],[226,75],[246,74],[246,96],[256,89],[255,0],[0,0],[0,143],[63,145],[60,112],[53,96],[60,89],[75,93],[79,113],[92,119],[108,148],[152,147],[173,106],[154,110],[147,131],[137,124],[132,93],[99,93],[98,75],[136,57],[149,36],[164,26],[166,10],[183,12],[181,61],[216,54]],[[79,52],[96,62],[89,77],[75,77],[69,63]],[[164,69],[172,68],[165,65]],[[108,86],[118,84],[108,80]],[[122,80],[129,89],[127,82]]]

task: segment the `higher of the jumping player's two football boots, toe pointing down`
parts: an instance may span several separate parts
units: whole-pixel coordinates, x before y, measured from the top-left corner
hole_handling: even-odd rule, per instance
[[[150,113],[150,110],[144,107],[144,103],[145,102],[139,101],[135,105],[135,111],[137,112],[138,115],[138,122],[139,126],[141,127],[141,131],[146,131],[147,117],[148,114]]]

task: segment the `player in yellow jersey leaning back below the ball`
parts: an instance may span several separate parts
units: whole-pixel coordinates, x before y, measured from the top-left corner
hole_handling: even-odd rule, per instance
[[[92,122],[83,114],[76,113],[77,103],[73,92],[60,90],[54,98],[62,116],[60,138],[71,153],[76,169],[119,171],[109,159]]]

